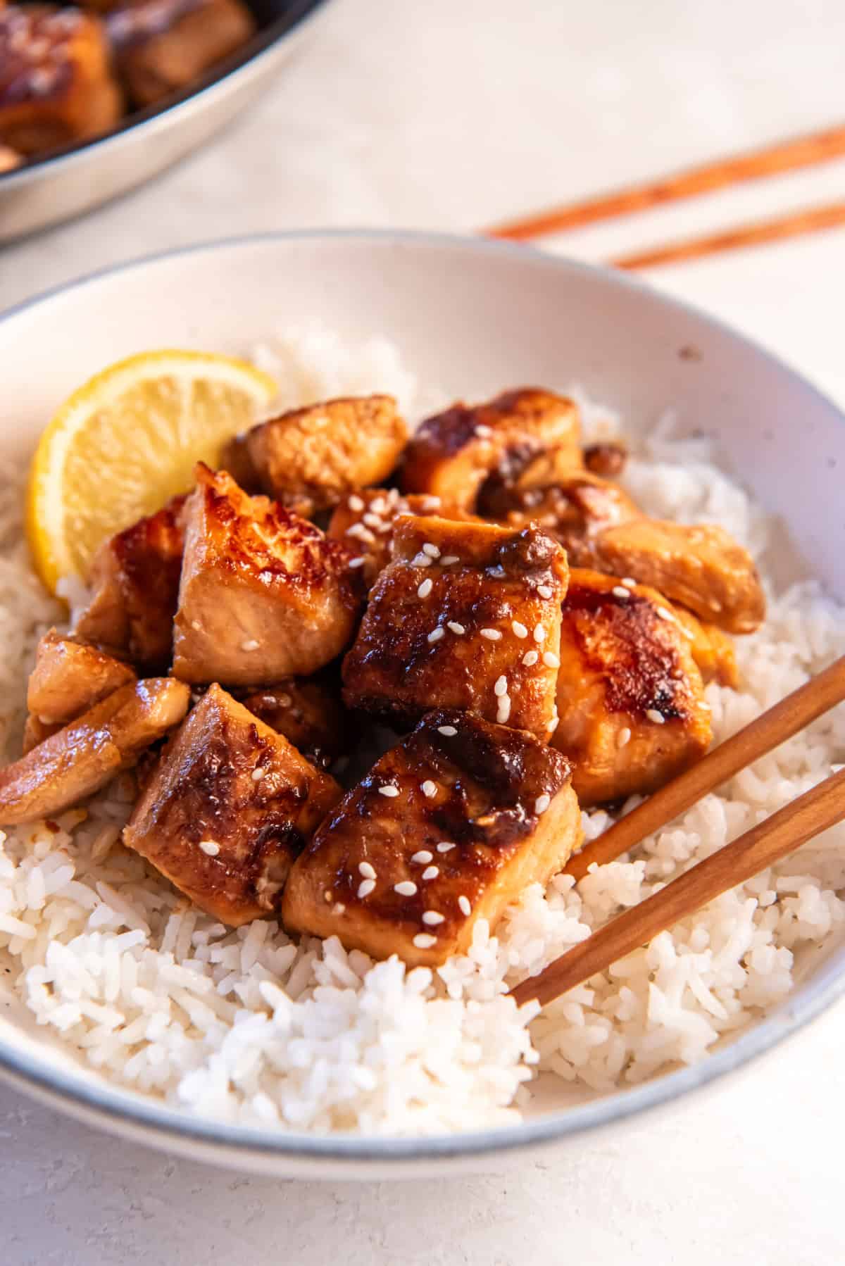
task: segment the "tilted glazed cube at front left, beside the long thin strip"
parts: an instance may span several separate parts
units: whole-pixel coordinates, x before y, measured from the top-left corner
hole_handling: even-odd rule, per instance
[[[123,832],[200,909],[276,914],[291,863],[341,798],[283,734],[212,686],[165,749]]]

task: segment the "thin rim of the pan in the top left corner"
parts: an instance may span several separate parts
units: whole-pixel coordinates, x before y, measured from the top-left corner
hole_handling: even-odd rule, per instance
[[[162,104],[130,110],[114,128],[109,128],[99,137],[91,137],[90,141],[82,141],[79,144],[62,146],[60,149],[44,154],[43,158],[34,158],[30,162],[24,162],[20,167],[0,172],[0,195],[37,181],[42,176],[61,175],[63,168],[85,162],[95,151],[114,149],[128,144],[138,133],[149,137],[177,123],[184,115],[201,109],[209,94],[214,90],[226,89],[229,91],[234,89],[242,78],[252,73],[253,68],[270,56],[276,44],[317,16],[317,13],[327,4],[329,0],[290,0],[288,10],[260,27],[239,51],[223,58],[217,67],[212,67],[182,91],[168,94]]]

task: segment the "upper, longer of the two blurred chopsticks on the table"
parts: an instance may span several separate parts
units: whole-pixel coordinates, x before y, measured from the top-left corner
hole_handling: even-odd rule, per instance
[[[611,194],[599,194],[597,197],[554,206],[523,219],[507,220],[503,224],[483,229],[483,233],[486,237],[528,242],[550,233],[564,233],[568,229],[583,228],[599,220],[631,215],[651,206],[709,194],[730,185],[778,176],[783,172],[798,171],[802,167],[813,167],[817,163],[840,158],[842,154],[845,154],[845,124],[803,137],[793,137],[789,141],[780,141],[761,149],[736,154],[732,158],[689,167],[673,176],[645,181]]]

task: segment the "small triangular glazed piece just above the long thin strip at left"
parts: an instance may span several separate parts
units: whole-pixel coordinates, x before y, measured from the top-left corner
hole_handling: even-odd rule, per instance
[[[134,680],[127,663],[51,629],[38,643],[27,686],[30,717],[24,732],[24,752]]]

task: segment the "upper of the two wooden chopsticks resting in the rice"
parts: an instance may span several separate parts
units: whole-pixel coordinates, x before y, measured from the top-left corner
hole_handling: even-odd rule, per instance
[[[655,791],[625,818],[619,818],[603,836],[570,857],[565,874],[583,879],[593,862],[598,862],[599,866],[612,862],[842,700],[845,700],[845,656],[811,677],[798,690],[793,690],[732,738],[720,743],[697,765],[671,782],[666,782],[660,791]]]

